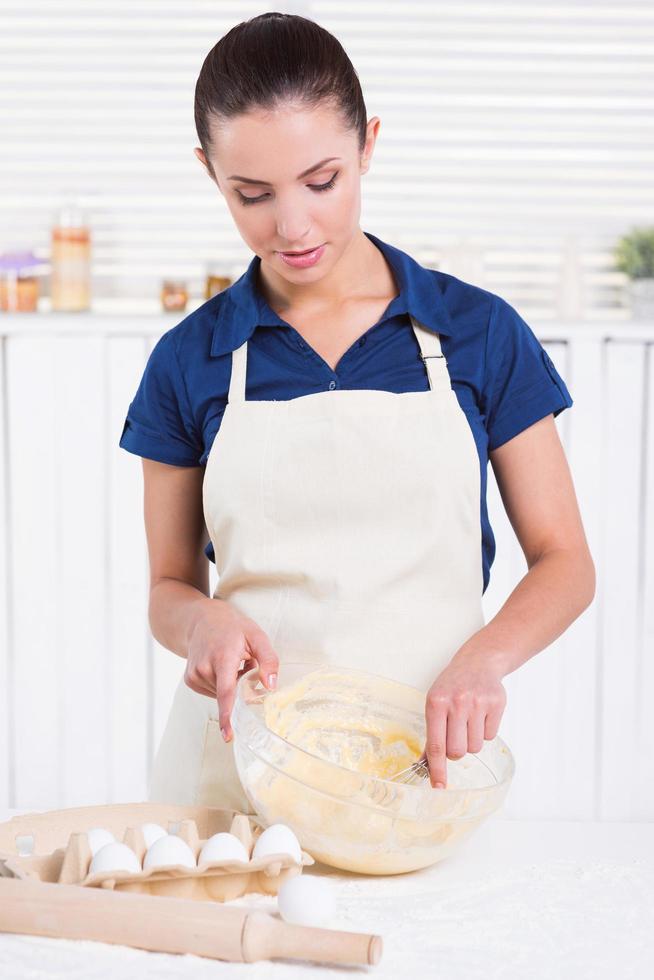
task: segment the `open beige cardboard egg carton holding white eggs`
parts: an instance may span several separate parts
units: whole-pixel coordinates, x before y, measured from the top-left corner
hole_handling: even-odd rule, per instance
[[[106,827],[114,833],[116,840],[119,840],[121,829],[119,824],[117,826],[115,816],[116,811],[121,808],[127,808],[128,811],[124,814],[127,817],[127,824],[123,824],[122,841],[131,847],[141,864],[147,850],[141,825],[150,821],[160,823],[168,833],[181,837],[191,848],[196,861],[209,837],[220,831],[229,831],[238,837],[250,855],[250,860],[247,865],[238,860],[203,861],[197,868],[171,864],[138,872],[102,871],[90,874],[92,854],[86,830],[69,832],[65,847],[58,847],[50,853],[29,856],[20,853],[21,848],[23,850],[27,848],[29,835],[15,834],[14,839],[19,853],[3,854],[2,848],[6,835],[2,831],[11,824],[14,824],[16,830],[19,829],[18,824],[21,825],[21,829],[28,830],[29,816],[39,818],[36,822],[43,826],[43,818],[48,814],[39,813],[28,815],[26,818],[14,818],[8,824],[0,825],[0,875],[75,884],[85,888],[107,888],[164,897],[227,902],[246,892],[276,895],[284,881],[301,874],[304,866],[314,864],[314,859],[306,851],[301,852],[301,862],[296,861],[289,854],[271,854],[253,859],[252,849],[265,828],[253,816],[235,811],[216,810],[211,807],[175,806],[168,808],[177,811],[172,819],[168,820],[165,817],[165,806],[148,804],[85,807],[77,811],[59,810],[51,813],[54,818],[65,817],[67,812],[71,815],[83,813],[83,822],[87,829],[92,826]],[[135,812],[139,808],[140,813]],[[185,816],[179,811],[200,812]],[[107,819],[109,816],[112,819]],[[61,831],[60,825],[59,830]],[[205,836],[201,837],[200,833],[204,833]],[[36,843],[37,839],[38,832],[32,836],[33,843]]]

